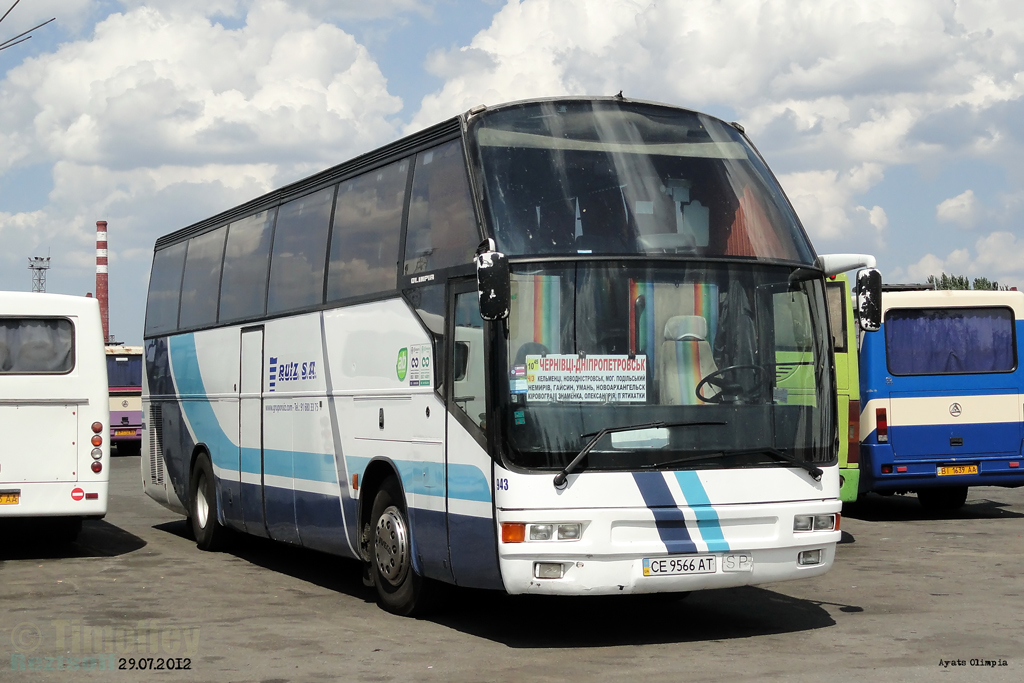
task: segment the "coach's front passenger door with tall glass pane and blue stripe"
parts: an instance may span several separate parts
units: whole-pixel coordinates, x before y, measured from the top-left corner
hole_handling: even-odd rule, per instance
[[[445,490],[449,552],[459,586],[501,588],[486,447],[483,321],[476,281],[450,288]]]

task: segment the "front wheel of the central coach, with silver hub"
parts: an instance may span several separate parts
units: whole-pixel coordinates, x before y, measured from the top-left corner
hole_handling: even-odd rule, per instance
[[[370,528],[371,570],[380,606],[400,616],[422,614],[431,606],[435,587],[413,568],[409,513],[394,477],[385,479],[377,492]]]

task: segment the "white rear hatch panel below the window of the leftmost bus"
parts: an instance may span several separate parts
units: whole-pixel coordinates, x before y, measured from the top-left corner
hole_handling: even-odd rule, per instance
[[[78,480],[78,413],[77,404],[0,405],[0,482]]]

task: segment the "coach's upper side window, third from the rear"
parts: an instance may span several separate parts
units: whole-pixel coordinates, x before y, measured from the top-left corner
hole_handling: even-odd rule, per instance
[[[224,275],[220,284],[220,321],[262,315],[266,304],[267,265],[276,210],[234,221],[227,228]]]

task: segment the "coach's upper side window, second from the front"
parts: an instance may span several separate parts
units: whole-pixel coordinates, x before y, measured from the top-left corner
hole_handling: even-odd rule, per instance
[[[327,298],[393,290],[409,160],[371,171],[338,188]]]

